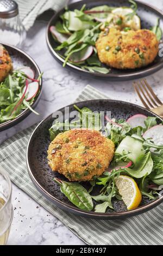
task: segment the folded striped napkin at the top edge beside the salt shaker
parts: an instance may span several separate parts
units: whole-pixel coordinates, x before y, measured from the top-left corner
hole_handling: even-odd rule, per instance
[[[58,11],[64,7],[68,0],[16,0],[21,21],[28,31],[33,26],[37,16],[48,9]]]

